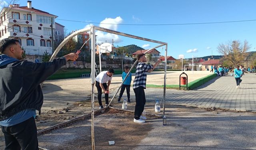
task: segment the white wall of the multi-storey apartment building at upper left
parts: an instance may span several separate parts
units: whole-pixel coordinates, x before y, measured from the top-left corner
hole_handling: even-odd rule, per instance
[[[15,19],[16,22],[14,22],[13,21],[14,19],[12,19],[12,12],[14,11],[20,13],[20,19]],[[2,10],[2,12],[4,12],[4,10]],[[23,14],[31,14],[32,20],[24,20]],[[40,22],[37,22],[36,20],[37,20],[36,13],[34,12],[27,11],[27,10],[14,10],[14,9],[10,10],[10,12],[8,12],[8,14],[6,15],[6,20],[4,21],[4,17],[3,17],[3,22],[1,22],[1,25],[0,25],[1,32],[2,30],[5,29],[5,26],[7,28],[7,31],[5,33],[5,30],[4,30],[4,35],[0,38],[0,40],[4,38],[20,38],[21,46],[26,50],[26,54],[43,55],[45,51],[47,51],[49,54],[52,54],[52,47],[47,47],[47,44],[46,44],[47,40],[52,41],[52,39],[50,38],[52,35],[50,36],[44,35],[44,28],[51,28],[50,27],[51,24],[40,23]],[[29,23],[26,23],[26,21],[28,21]],[[42,26],[40,26],[40,24],[42,24]],[[14,32],[12,27],[13,25],[19,25],[21,31]],[[27,28],[28,26],[32,27],[32,33],[24,32],[24,27]],[[38,27],[41,27],[41,30],[39,30]],[[55,24],[53,24],[53,28],[55,29]],[[17,35],[13,35],[14,33],[16,33]],[[29,34],[29,36],[26,36],[26,34]],[[43,36],[43,37],[41,38],[40,36]],[[28,38],[32,38],[34,40],[34,46],[27,46]],[[40,46],[41,39],[45,40],[45,46]]]

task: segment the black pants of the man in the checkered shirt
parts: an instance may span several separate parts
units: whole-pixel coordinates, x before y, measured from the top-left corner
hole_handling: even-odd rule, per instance
[[[138,88],[134,88],[133,90],[134,90],[135,99],[136,99],[134,118],[138,120],[140,119],[140,115],[144,110],[144,106],[146,104],[146,98],[145,98],[144,88],[142,86],[139,86]]]

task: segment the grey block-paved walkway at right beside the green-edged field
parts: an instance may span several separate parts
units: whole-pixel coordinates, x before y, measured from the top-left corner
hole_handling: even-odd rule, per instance
[[[234,76],[216,77],[194,90],[166,89],[166,102],[170,104],[196,106],[198,108],[221,108],[234,111],[256,111],[256,75],[245,74],[240,88],[236,88]],[[131,89],[131,98],[135,99]],[[163,98],[163,89],[147,88],[147,102]],[[126,93],[124,93],[124,96]]]

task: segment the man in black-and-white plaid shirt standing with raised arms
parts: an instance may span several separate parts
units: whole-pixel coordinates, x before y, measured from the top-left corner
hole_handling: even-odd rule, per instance
[[[144,105],[146,104],[144,89],[146,89],[147,72],[152,72],[161,61],[158,59],[154,66],[146,64],[145,62],[147,62],[147,58],[145,57],[145,54],[138,54],[137,60],[139,63],[136,68],[136,75],[133,84],[133,90],[136,99],[134,122],[144,123],[147,118],[141,116],[141,114],[144,110]]]

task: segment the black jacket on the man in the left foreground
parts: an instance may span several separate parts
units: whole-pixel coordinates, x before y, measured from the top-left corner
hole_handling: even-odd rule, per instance
[[[0,121],[25,109],[40,113],[43,104],[40,83],[65,64],[66,58],[62,57],[45,63],[16,60],[0,65]]]

